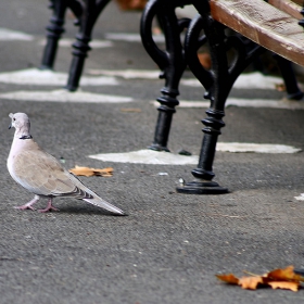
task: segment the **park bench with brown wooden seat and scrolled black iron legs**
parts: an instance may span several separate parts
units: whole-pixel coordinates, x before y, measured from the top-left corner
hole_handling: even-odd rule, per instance
[[[202,121],[205,126],[203,128],[204,137],[198,167],[192,170],[194,180],[181,183],[177,191],[195,194],[226,193],[228,189],[220,187],[212,179],[215,176],[213,162],[217,138],[220,135],[220,128],[225,126],[223,117],[225,116],[224,110],[227,97],[238,76],[266,49],[278,54],[278,63],[282,69],[287,89],[297,98],[303,97],[294,79],[290,61],[304,65],[304,30],[301,14],[301,12],[304,14],[304,10],[302,10],[300,1],[289,0],[269,0],[268,3],[263,0],[191,0],[178,2],[178,4],[185,5],[193,4],[200,13],[187,25],[188,30],[183,46],[185,56],[177,41],[177,33],[174,30],[178,22],[174,17],[173,2],[150,0],[143,12],[143,45],[152,59],[159,63],[161,68],[164,68],[164,75],[167,78],[167,86],[162,90],[164,96],[157,99],[161,106],[159,107],[160,114],[153,145],[160,150],[166,148],[167,138],[162,141],[164,130],[161,129],[169,128],[172,113],[178,104],[176,100],[178,77],[175,78],[175,83],[169,80],[175,75],[180,75],[181,69],[188,64],[204,86],[205,98],[211,101],[211,106],[206,111],[207,117]],[[166,65],[169,56],[157,50],[152,37],[149,37],[148,28],[151,25],[152,15],[160,12],[161,8],[166,41],[170,45],[170,49],[175,51],[170,51],[170,55],[175,58],[175,62],[172,61],[170,65]],[[182,27],[181,23],[179,23],[179,27]],[[236,35],[228,36],[227,28],[239,33],[255,43],[248,49],[243,39]],[[198,50],[205,42],[208,45],[212,59],[210,71],[202,66],[198,58]],[[229,61],[227,51],[230,49],[235,50],[235,56]]]

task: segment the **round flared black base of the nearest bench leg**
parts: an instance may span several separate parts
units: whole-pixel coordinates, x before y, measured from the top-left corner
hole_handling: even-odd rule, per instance
[[[215,181],[190,181],[176,188],[178,193],[183,194],[225,194],[227,188],[220,187]]]

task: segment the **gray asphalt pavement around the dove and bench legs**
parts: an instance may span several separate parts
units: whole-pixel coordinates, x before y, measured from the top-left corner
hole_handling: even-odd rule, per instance
[[[46,2],[46,3],[45,3]],[[50,17],[47,1],[0,2],[0,27],[35,35],[34,41],[0,41],[2,72],[39,66]],[[123,13],[115,3],[98,22],[94,37],[136,33],[140,14]],[[74,37],[72,20],[65,37]],[[60,49],[55,69],[67,72],[71,50]],[[140,43],[115,41],[96,49],[88,68],[155,68]],[[186,77],[191,77],[190,72]],[[178,178],[191,180],[193,166],[102,163],[88,154],[136,151],[153,139],[162,80],[121,80],[121,87],[89,87],[99,93],[131,96],[130,104],[73,104],[0,99],[0,303],[301,303],[297,293],[259,289],[244,291],[217,281],[215,274],[263,274],[294,265],[304,267],[303,153],[217,153],[216,180],[225,195],[175,192]],[[0,92],[37,90],[0,84]],[[49,90],[50,87],[39,87]],[[58,89],[52,87],[51,89]],[[200,100],[201,88],[181,87],[181,97]],[[281,99],[284,93],[233,90],[235,97]],[[122,107],[139,107],[125,113]],[[114,167],[111,178],[83,178],[104,199],[125,210],[110,216],[74,200],[58,200],[58,213],[21,212],[31,198],[9,176],[5,162],[13,132],[10,112],[31,118],[33,136],[48,152],[74,165]],[[204,110],[179,109],[169,148],[200,151]],[[281,143],[304,149],[304,112],[229,107],[221,141]],[[161,176],[159,173],[167,173]],[[41,206],[43,203],[41,203]]]

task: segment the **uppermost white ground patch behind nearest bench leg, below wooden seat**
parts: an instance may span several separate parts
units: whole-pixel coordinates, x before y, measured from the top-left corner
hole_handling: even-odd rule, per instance
[[[282,84],[283,80],[280,77],[265,76],[259,72],[241,74],[233,85],[235,89],[276,89],[276,85]],[[201,83],[197,78],[182,79],[180,81],[183,86],[189,87],[202,87]]]

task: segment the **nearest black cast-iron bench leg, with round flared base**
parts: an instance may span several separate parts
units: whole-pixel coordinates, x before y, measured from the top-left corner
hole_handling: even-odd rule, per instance
[[[254,61],[265,49],[257,46],[246,52],[245,45],[237,36],[226,37],[225,27],[212,18],[208,1],[192,1],[201,16],[192,20],[189,25],[185,50],[189,67],[200,83],[205,87],[205,98],[211,101],[206,111],[207,117],[202,121],[204,124],[203,142],[200,152],[198,167],[192,170],[194,180],[180,185],[177,191],[189,194],[220,194],[227,193],[228,189],[212,181],[213,162],[215,156],[217,138],[220,129],[225,126],[225,102],[233,86],[233,83],[243,69]],[[199,62],[198,49],[200,33],[204,30],[212,58],[211,71],[205,69]],[[228,63],[227,50],[236,52],[232,63]]]

